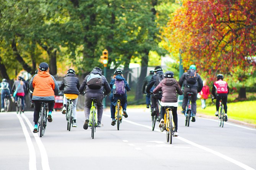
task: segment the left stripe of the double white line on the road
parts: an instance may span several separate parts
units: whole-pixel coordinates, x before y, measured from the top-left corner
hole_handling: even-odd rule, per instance
[[[16,113],[15,113],[16,114]],[[26,128],[26,125],[22,118],[20,117],[20,114],[16,114],[18,119],[20,120],[20,124],[24,133],[24,136],[26,138],[26,142],[28,145],[28,151],[29,151],[29,170],[36,170],[36,151],[34,148],[34,145],[32,143],[32,140],[29,136],[28,130]]]

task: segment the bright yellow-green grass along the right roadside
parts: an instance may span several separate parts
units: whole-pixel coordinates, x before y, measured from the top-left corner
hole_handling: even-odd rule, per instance
[[[210,101],[210,99],[207,99]],[[201,100],[197,100],[197,113],[214,115],[216,106],[211,104],[205,109],[201,108]],[[256,101],[240,101],[228,103],[228,118],[240,120],[246,123],[256,124]]]

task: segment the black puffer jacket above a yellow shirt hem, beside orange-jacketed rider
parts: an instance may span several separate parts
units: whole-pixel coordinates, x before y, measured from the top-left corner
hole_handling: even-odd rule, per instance
[[[64,94],[79,95],[80,83],[79,79],[73,73],[68,73],[62,80],[59,89],[64,89]]]

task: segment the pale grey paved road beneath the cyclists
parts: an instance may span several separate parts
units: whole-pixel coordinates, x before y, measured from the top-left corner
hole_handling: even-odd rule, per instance
[[[196,118],[189,127],[178,115],[179,137],[166,142],[159,128],[151,130],[148,110],[127,110],[120,130],[111,125],[104,110],[104,127],[83,129],[84,114],[78,111],[78,127],[67,131],[65,115],[53,112],[45,135],[32,133],[33,112],[0,113],[0,170],[216,170],[256,168],[256,129],[233,123]]]

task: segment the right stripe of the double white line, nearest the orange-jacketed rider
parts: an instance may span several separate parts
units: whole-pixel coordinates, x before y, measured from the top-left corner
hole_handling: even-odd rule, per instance
[[[26,120],[31,132],[33,133],[33,128],[34,128],[33,125],[31,124],[31,122],[29,122],[28,118],[24,114],[21,114],[21,115]],[[33,135],[34,135],[34,138],[36,140],[36,143],[38,144],[38,148],[39,148],[39,151],[40,151],[40,154],[41,154],[42,169],[43,170],[50,170],[48,156],[47,156],[46,149],[44,148],[44,144],[42,143],[38,134],[33,133]]]

